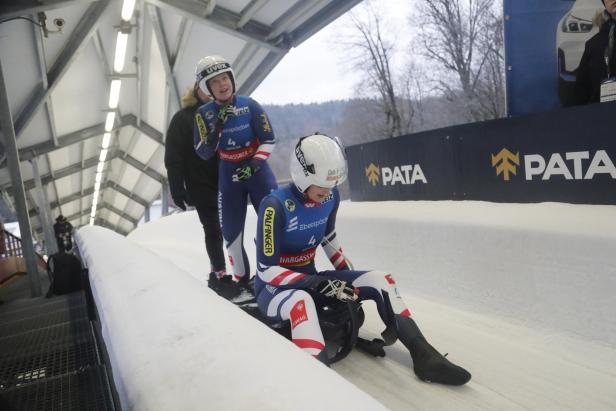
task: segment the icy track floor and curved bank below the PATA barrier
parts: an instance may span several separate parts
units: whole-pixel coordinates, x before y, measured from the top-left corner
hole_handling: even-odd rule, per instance
[[[255,224],[251,210],[253,268]],[[386,407],[616,409],[616,207],[344,202],[337,231],[354,266],[390,271],[428,340],[473,374],[464,387],[422,383],[399,343],[385,358],[354,351],[332,367]],[[205,287],[194,211],[142,225],[129,239]],[[323,254],[317,262],[328,267]],[[377,337],[382,325],[366,306],[360,334]]]

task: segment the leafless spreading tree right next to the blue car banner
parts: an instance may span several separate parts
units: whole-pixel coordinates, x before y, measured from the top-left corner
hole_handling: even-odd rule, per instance
[[[461,91],[475,121],[497,117],[485,99],[495,103],[499,98],[490,93],[503,93],[502,83],[500,88],[496,83],[499,65],[502,68],[502,33],[493,37],[498,27],[493,4],[494,0],[424,0],[419,5],[423,54],[457,78],[458,87],[446,78],[437,80],[438,87],[452,100]]]

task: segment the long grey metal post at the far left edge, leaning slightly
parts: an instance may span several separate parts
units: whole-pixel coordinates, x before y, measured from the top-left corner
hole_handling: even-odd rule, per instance
[[[9,106],[8,95],[6,94],[6,85],[4,83],[4,73],[2,70],[2,61],[0,60],[0,127],[4,135],[4,143],[6,144],[6,155],[11,174],[11,180],[14,182],[15,192],[13,197],[17,206],[17,218],[19,220],[19,230],[21,231],[21,241],[24,257],[26,259],[26,270],[28,270],[28,278],[30,280],[30,292],[32,297],[39,297],[41,292],[41,281],[38,275],[36,264],[36,255],[34,253],[34,242],[32,240],[32,229],[30,227],[30,219],[28,218],[28,205],[26,204],[26,192],[22,183],[21,169],[19,167],[19,155],[17,153],[17,137],[13,128],[13,117]]]

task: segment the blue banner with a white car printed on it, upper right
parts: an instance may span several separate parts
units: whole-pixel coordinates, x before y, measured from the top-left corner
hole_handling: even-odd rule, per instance
[[[521,115],[567,106],[601,0],[503,0],[507,111]]]

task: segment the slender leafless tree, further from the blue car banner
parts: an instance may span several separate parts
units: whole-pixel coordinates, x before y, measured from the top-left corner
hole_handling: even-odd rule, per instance
[[[378,103],[385,115],[385,130],[388,136],[396,137],[408,131],[408,113],[403,113],[394,84],[391,61],[394,54],[394,42],[388,39],[382,17],[371,2],[363,6],[367,13],[364,18],[351,14],[350,20],[354,32],[345,43],[355,53],[352,57],[355,69],[364,73],[364,85],[375,92],[380,99]]]

